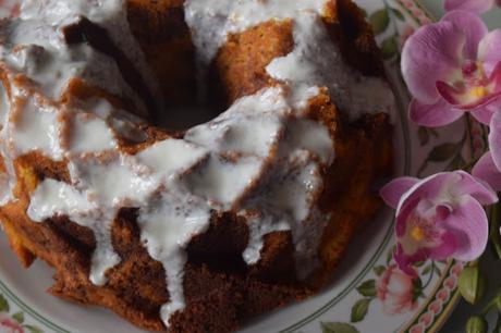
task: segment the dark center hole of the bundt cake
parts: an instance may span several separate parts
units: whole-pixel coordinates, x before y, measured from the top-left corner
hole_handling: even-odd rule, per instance
[[[183,3],[127,2],[131,30],[163,99],[163,107],[151,112],[150,119],[168,131],[185,131],[206,123],[224,112],[235,99],[229,94],[228,84],[223,84],[221,69],[215,63],[197,63]]]

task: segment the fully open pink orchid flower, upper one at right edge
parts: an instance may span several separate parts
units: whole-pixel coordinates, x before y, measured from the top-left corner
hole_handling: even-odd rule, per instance
[[[501,29],[489,33],[472,12],[450,12],[411,36],[402,73],[414,122],[442,126],[471,111],[489,124],[501,108]]]

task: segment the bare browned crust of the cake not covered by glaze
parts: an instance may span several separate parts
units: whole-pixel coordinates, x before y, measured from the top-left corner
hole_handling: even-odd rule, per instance
[[[133,32],[156,69],[167,99],[182,103],[195,89],[193,46],[182,20],[182,1],[129,3]],[[346,60],[365,74],[383,75],[372,33],[361,11],[350,0],[338,0],[332,1],[329,12],[326,25]],[[292,46],[288,22],[270,22],[231,36],[211,66],[210,86],[217,92],[213,103],[230,104],[241,96],[279,84],[266,74],[265,67],[272,59],[290,52]],[[88,89],[75,82],[70,94],[85,96],[90,94]],[[261,260],[247,267],[241,256],[248,240],[245,221],[232,212],[215,217],[209,231],[196,236],[188,246],[186,308],[173,314],[170,332],[231,332],[252,316],[303,299],[329,281],[350,239],[381,207],[372,185],[392,165],[388,115],[367,115],[349,123],[342,111],[326,91],[310,100],[310,116],[330,128],[337,144],[337,159],[329,170],[323,170],[321,210],[332,218],[319,252],[321,269],[308,284],[292,278],[294,246],[288,232],[268,235]],[[154,127],[148,133],[147,143],[121,143],[121,149],[139,151],[169,136]],[[152,260],[140,243],[136,209],[123,208],[115,219],[112,243],[122,260],[107,272],[109,282],[96,286],[88,280],[95,248],[93,232],[66,218],[35,223],[26,214],[29,194],[39,182],[46,177],[69,181],[65,163],[34,152],[19,158],[14,164],[19,177],[14,193],[19,200],[0,209],[0,218],[21,262],[28,267],[38,257],[52,266],[54,285],[49,292],[58,297],[103,306],[139,328],[164,331],[159,309],[169,300],[166,275],[161,263]]]

